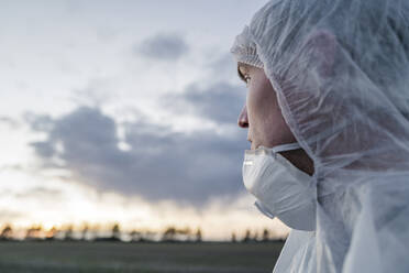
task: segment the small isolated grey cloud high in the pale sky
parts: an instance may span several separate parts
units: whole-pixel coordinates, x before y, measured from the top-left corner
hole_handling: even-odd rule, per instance
[[[163,33],[145,40],[136,52],[154,59],[176,61],[189,51],[185,40],[178,34]]]

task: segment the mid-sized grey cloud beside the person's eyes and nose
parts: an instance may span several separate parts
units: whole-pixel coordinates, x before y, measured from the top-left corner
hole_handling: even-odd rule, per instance
[[[175,112],[190,111],[217,123],[235,124],[245,102],[245,90],[219,81],[208,87],[188,86],[180,95],[167,95],[164,105]]]

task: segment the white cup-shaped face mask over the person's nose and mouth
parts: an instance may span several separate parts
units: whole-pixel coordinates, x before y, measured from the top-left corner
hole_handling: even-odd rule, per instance
[[[262,212],[290,228],[311,231],[316,230],[317,187],[311,176],[278,153],[299,148],[290,143],[245,151],[243,181]]]

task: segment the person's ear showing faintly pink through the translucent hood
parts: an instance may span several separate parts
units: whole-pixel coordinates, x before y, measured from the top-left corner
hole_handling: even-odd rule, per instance
[[[322,77],[333,74],[336,54],[336,37],[330,31],[317,30],[310,33],[303,44],[310,54],[310,61],[316,63],[318,73]]]

